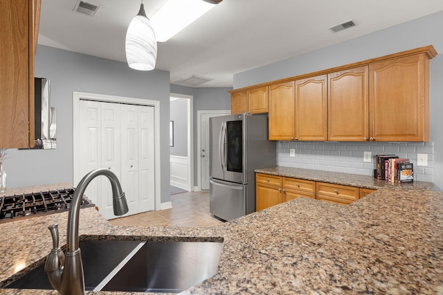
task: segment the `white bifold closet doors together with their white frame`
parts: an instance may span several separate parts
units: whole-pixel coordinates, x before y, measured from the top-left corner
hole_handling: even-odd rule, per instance
[[[74,92],[73,184],[89,170],[111,169],[127,195],[127,215],[161,208],[159,134],[158,101]],[[109,181],[93,181],[87,197],[114,218]]]

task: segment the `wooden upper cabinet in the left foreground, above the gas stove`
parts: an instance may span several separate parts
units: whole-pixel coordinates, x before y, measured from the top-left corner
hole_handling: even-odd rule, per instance
[[[39,0],[0,1],[0,148],[34,146]]]

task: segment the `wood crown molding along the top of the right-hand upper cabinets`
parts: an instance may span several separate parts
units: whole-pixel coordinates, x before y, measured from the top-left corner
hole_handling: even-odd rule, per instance
[[[415,49],[410,49],[408,51],[401,51],[399,53],[393,53],[390,55],[384,55],[381,57],[375,57],[372,58],[370,60],[363,60],[361,62],[354,62],[352,64],[345,64],[344,66],[336,66],[334,68],[330,68],[330,69],[325,69],[325,70],[321,70],[321,71],[316,71],[313,73],[306,73],[306,74],[302,74],[302,75],[296,75],[293,77],[289,77],[289,78],[284,78],[284,79],[280,79],[280,80],[273,80],[270,82],[264,82],[261,84],[255,84],[255,85],[251,85],[248,87],[243,87],[243,88],[238,88],[238,89],[233,89],[228,91],[229,93],[236,93],[236,92],[240,92],[240,91],[246,91],[246,90],[250,90],[250,89],[255,89],[257,87],[266,87],[272,84],[278,84],[278,83],[283,83],[283,82],[290,82],[290,81],[294,81],[294,80],[300,80],[300,79],[305,79],[305,78],[310,78],[310,77],[314,77],[316,75],[324,75],[327,73],[334,73],[337,71],[344,71],[347,69],[352,69],[352,68],[356,68],[359,66],[365,66],[368,64],[372,64],[374,62],[381,62],[383,60],[391,60],[397,57],[404,57],[407,55],[415,55],[415,54],[419,54],[419,53],[426,53],[426,55],[428,56],[428,58],[431,60],[433,59],[436,55],[437,55],[437,51],[435,51],[434,46],[432,45],[428,45],[428,46],[423,46],[423,47],[419,47],[419,48],[415,48]]]

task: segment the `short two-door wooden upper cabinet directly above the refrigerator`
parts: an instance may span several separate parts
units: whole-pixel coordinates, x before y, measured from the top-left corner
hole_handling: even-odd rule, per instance
[[[231,114],[264,114],[268,112],[268,87],[257,87],[230,95]]]

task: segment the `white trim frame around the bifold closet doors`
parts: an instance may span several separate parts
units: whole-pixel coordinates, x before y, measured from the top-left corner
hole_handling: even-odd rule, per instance
[[[116,102],[131,105],[154,107],[154,210],[161,210],[161,164],[160,164],[160,101],[124,96],[109,96],[105,94],[73,91],[73,185],[78,184],[84,175],[80,175],[80,100],[95,100],[100,102]]]

